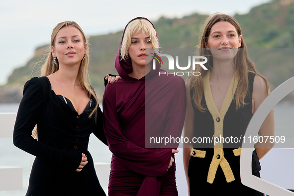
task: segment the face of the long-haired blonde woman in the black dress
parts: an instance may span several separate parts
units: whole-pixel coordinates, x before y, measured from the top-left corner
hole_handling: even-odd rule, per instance
[[[61,28],[56,34],[54,44],[51,52],[58,59],[59,66],[80,65],[87,52],[81,31],[72,26]]]

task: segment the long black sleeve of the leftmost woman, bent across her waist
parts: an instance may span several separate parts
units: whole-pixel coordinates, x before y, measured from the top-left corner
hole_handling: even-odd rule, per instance
[[[44,87],[42,88],[39,82],[39,78],[32,78],[24,85],[23,98],[14,125],[13,143],[16,147],[50,162],[55,167],[75,171],[82,160],[81,152],[57,149],[32,137],[32,130],[43,112]]]

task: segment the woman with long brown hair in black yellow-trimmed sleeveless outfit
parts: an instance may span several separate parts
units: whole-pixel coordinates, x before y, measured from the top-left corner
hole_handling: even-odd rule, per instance
[[[269,84],[249,59],[240,25],[233,17],[208,17],[198,48],[198,56],[207,58],[204,65],[208,70],[199,66],[195,71],[201,75],[186,81],[184,137],[190,141],[194,137],[183,154],[190,195],[262,196],[241,183],[240,147],[253,113],[270,93]],[[259,135],[274,135],[273,110]],[[259,159],[273,145],[255,144],[253,175],[260,177]]]

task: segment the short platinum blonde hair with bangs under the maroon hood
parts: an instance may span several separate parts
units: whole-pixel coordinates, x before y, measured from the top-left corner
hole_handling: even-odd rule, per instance
[[[131,38],[135,33],[139,32],[140,30],[143,34],[149,35],[150,41],[152,43],[152,48],[154,48],[154,52],[159,55],[159,43],[156,36],[156,31],[153,25],[148,20],[141,18],[131,21],[125,28],[124,36],[122,38],[120,46],[121,60],[126,60],[126,58],[128,58],[128,49],[131,46]]]

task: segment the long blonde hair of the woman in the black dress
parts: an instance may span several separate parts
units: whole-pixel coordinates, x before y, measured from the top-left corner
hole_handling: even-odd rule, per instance
[[[87,49],[86,55],[84,56],[84,58],[81,61],[80,69],[78,72],[78,79],[79,79],[81,87],[88,92],[89,98],[91,98],[91,96],[92,96],[96,100],[97,104],[95,105],[95,108],[92,110],[92,112],[89,115],[89,117],[92,117],[94,115],[94,117],[96,119],[97,108],[98,108],[98,99],[95,94],[94,88],[91,86],[91,83],[89,80],[89,72],[88,72],[89,58],[90,58],[89,47],[88,47],[89,39],[85,35],[82,28],[76,22],[74,22],[74,21],[60,22],[53,28],[52,34],[51,34],[50,49],[48,52],[49,54],[48,54],[47,60],[45,61],[45,63],[43,64],[43,66],[41,68],[41,76],[49,76],[50,74],[53,74],[57,70],[59,70],[58,59],[56,59],[56,64],[55,64],[54,58],[53,58],[52,52],[51,52],[51,47],[55,46],[55,38],[56,38],[56,35],[59,32],[59,30],[63,27],[69,27],[69,26],[76,27],[77,29],[79,29],[81,31],[82,36],[83,36],[83,40],[84,40],[84,44],[85,44],[85,48]],[[32,136],[37,138],[37,128],[36,127],[33,130]]]

